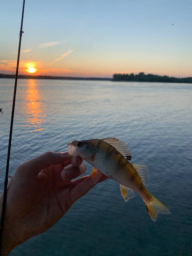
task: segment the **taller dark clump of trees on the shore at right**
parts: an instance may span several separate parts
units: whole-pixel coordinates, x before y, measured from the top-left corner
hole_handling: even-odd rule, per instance
[[[163,82],[163,83],[192,83],[192,77],[169,77],[169,76],[158,76],[140,72],[138,75],[133,73],[128,74],[114,74],[113,81],[137,81],[137,82]]]

